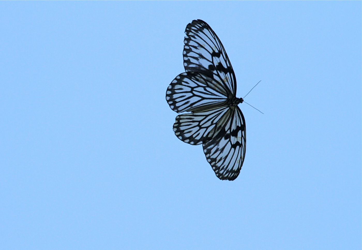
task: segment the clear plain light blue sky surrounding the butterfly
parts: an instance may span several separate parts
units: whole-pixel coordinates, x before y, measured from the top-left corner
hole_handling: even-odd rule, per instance
[[[194,19],[261,80],[232,182],[165,100]],[[361,1],[2,1],[0,111],[1,249],[361,249]]]

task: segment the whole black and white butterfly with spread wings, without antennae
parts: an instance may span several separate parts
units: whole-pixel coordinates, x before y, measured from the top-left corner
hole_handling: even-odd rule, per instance
[[[180,114],[173,124],[182,141],[202,144],[216,176],[234,180],[245,157],[245,119],[237,106],[236,78],[220,39],[202,20],[186,26],[184,67],[167,88],[166,101]]]

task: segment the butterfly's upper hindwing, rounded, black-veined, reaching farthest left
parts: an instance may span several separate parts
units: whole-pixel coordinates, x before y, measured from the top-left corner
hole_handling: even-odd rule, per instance
[[[168,86],[166,101],[177,113],[198,112],[224,105],[227,92],[222,85],[202,73],[182,73]]]

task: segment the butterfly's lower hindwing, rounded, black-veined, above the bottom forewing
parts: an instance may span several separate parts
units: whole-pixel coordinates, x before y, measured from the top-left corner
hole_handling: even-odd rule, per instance
[[[173,131],[178,139],[185,143],[198,145],[203,141],[212,139],[225,126],[230,118],[230,108],[181,114],[176,116]]]

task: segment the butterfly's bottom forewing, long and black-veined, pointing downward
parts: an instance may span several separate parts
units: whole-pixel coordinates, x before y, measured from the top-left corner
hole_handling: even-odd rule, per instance
[[[232,112],[225,126],[211,140],[202,146],[207,161],[216,176],[232,181],[240,173],[246,148],[245,119],[239,107],[231,107]]]

